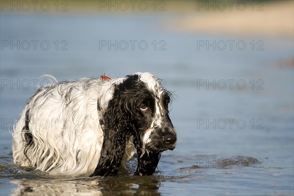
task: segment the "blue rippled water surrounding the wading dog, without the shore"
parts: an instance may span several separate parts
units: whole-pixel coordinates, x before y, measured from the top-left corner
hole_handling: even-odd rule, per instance
[[[1,49],[1,196],[294,194],[294,70],[286,62],[293,59],[293,40],[174,32],[162,27],[172,17],[1,13],[1,40],[50,44],[48,50],[25,50],[25,43],[20,50]],[[101,40],[148,47],[99,49]],[[248,47],[198,50],[197,40],[243,40]],[[262,40],[264,50],[252,50],[252,40]],[[162,153],[153,176],[132,176],[135,158],[117,176],[93,178],[13,164],[11,127],[27,98],[48,81],[40,75],[61,81],[135,72],[162,78],[174,94],[177,147]]]

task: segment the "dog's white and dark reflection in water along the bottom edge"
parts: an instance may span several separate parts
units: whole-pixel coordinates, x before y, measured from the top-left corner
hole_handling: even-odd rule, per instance
[[[89,195],[147,195],[159,196],[160,182],[156,176],[116,176],[60,180],[15,180],[18,187],[12,195],[27,196],[89,196]]]

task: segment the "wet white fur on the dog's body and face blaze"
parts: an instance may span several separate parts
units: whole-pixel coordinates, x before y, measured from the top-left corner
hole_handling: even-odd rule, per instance
[[[151,91],[160,96],[160,84],[150,73],[135,73],[147,83]],[[14,127],[14,162],[25,167],[50,174],[76,175],[94,172],[103,144],[103,131],[99,124],[97,102],[101,110],[108,106],[113,96],[113,85],[123,78],[107,81],[100,78],[84,78],[74,82],[54,83],[41,88],[25,106],[20,121]],[[158,103],[157,113],[160,113]],[[29,128],[33,135],[33,147],[25,157],[25,111],[30,110]],[[152,130],[150,130],[151,132]],[[149,134],[144,137],[148,142]],[[127,142],[124,161],[134,154],[134,147]]]

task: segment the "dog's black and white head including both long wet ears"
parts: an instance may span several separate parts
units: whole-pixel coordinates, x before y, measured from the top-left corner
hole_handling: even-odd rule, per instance
[[[109,156],[109,153],[104,155],[105,150],[113,150],[119,151],[112,156],[120,162],[125,142],[133,136],[139,162],[135,174],[152,174],[160,153],[176,145],[176,133],[169,117],[172,94],[150,73],[127,75],[113,85],[113,97],[103,112],[105,128],[100,161]],[[108,162],[114,164],[113,158]]]

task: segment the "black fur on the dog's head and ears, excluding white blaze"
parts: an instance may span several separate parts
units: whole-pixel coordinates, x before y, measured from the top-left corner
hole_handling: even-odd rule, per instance
[[[165,91],[165,102],[161,104],[167,108],[166,115],[169,97]],[[115,175],[122,163],[125,145],[130,136],[134,138],[138,155],[138,168],[134,175],[152,175],[160,159],[160,151],[143,148],[142,138],[154,118],[156,99],[156,95],[140,80],[139,75],[127,75],[122,83],[114,84],[113,98],[103,113],[103,122],[100,122],[104,124],[100,159],[90,176]],[[140,110],[142,104],[147,105],[147,111]]]

